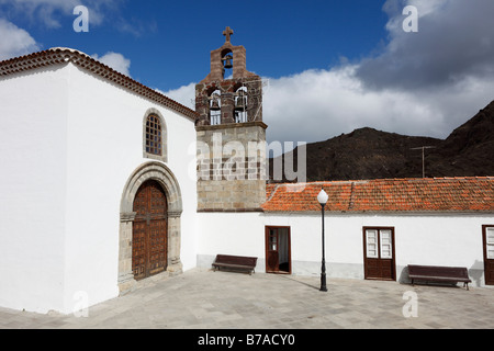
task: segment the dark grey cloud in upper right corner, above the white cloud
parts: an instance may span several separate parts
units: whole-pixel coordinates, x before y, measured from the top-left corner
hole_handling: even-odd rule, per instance
[[[403,31],[406,4],[418,10],[418,32]],[[436,89],[467,77],[494,77],[494,1],[390,0],[389,44],[361,61],[356,75],[372,89]]]

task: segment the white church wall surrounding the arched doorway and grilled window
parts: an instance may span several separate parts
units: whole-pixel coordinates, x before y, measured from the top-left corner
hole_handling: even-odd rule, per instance
[[[65,245],[65,312],[79,304],[78,292],[89,305],[119,294],[120,204],[124,186],[142,163],[143,121],[154,107],[165,118],[168,135],[167,167],[176,176],[182,194],[181,260],[184,270],[195,267],[197,208],[192,121],[128,92],[76,66],[70,75],[67,240]],[[192,148],[193,149],[193,148]]]

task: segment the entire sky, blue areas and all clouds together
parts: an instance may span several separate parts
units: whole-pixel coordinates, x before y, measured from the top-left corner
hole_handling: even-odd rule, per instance
[[[76,5],[89,32],[76,33]],[[403,30],[407,5],[418,32]],[[224,43],[269,81],[270,140],[318,141],[370,126],[447,137],[494,100],[492,0],[0,0],[0,59],[85,52],[193,107]]]

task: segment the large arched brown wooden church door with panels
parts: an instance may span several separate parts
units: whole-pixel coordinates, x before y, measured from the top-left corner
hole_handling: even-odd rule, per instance
[[[132,270],[141,280],[167,268],[167,199],[156,181],[145,182],[134,200]]]

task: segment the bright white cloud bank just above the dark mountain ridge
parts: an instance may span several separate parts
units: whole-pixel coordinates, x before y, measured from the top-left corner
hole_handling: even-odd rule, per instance
[[[269,140],[319,141],[360,127],[445,138],[493,100],[494,81],[465,79],[427,90],[371,90],[358,66],[270,79],[263,97]]]

